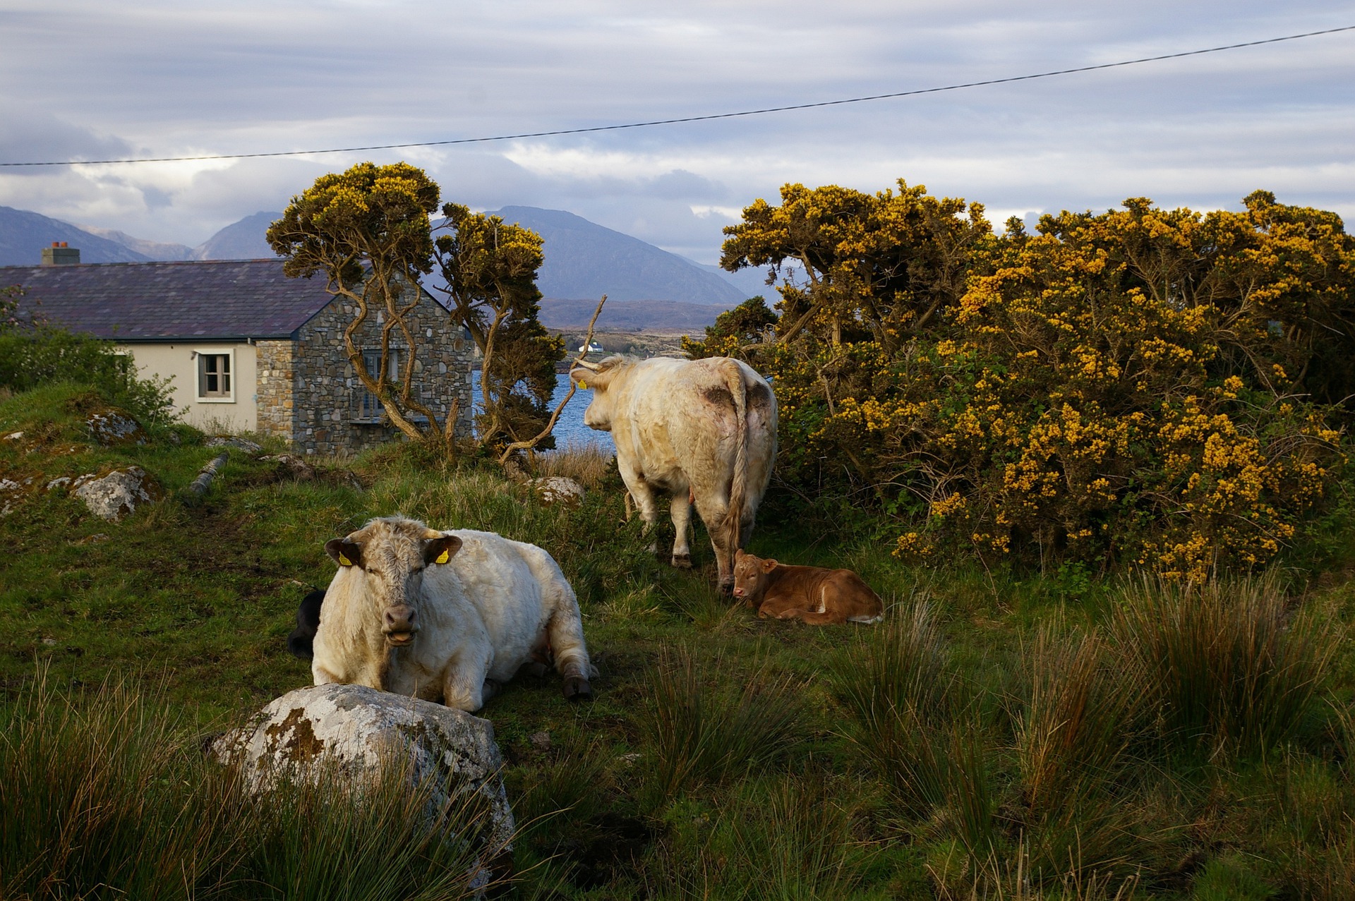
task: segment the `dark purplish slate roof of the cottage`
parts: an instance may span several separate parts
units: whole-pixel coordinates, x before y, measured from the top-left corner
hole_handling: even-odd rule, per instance
[[[119,341],[294,337],[333,299],[324,275],[287,278],[282,260],[0,267],[9,285],[47,320]]]

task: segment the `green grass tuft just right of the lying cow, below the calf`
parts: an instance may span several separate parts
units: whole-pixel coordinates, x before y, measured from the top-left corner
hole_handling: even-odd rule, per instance
[[[717,671],[725,665],[713,664]],[[649,778],[660,801],[766,767],[799,738],[801,684],[794,676],[759,665],[737,695],[710,682],[684,649],[660,652],[649,673]]]

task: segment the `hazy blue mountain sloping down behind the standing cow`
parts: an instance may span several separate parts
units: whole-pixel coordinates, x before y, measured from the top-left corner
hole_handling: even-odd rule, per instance
[[[534,206],[496,210],[505,222],[523,225],[545,240],[546,261],[537,287],[547,298],[610,301],[679,301],[728,309],[743,291],[691,260],[595,222]]]

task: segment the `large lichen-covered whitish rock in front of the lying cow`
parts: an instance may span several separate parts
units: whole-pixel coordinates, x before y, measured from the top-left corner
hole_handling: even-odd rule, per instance
[[[366,686],[298,688],[245,728],[214,738],[209,753],[241,766],[253,791],[268,790],[279,778],[317,779],[324,767],[360,782],[392,763],[392,755],[404,755],[394,763],[408,764],[412,782],[432,778],[442,786],[434,803],[449,793],[481,793],[491,817],[485,851],[499,856],[509,848],[514,817],[493,724],[461,710]],[[500,859],[491,868],[503,864]]]

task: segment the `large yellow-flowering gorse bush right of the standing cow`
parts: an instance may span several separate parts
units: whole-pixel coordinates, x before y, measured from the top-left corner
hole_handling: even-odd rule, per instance
[[[1335,214],[1130,199],[984,236],[977,205],[900,187],[789,186],[726,229],[726,266],[798,267],[780,340],[717,328],[688,352],[774,377],[783,478],[873,489],[908,557],[1199,580],[1293,539],[1355,393],[1355,245]]]

